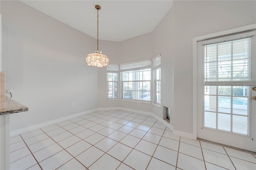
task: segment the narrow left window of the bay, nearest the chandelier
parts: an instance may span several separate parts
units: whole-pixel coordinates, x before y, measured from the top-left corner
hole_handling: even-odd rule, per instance
[[[107,96],[108,99],[118,99],[118,65],[107,66]]]

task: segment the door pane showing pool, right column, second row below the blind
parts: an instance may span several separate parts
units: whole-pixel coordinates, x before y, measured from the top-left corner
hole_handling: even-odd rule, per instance
[[[233,114],[248,115],[247,97],[233,97]]]

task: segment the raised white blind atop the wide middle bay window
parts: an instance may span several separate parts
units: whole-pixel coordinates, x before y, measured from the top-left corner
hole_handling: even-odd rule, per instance
[[[124,63],[120,65],[121,71],[135,71],[142,69],[150,69],[151,68],[151,60],[144,60],[132,63]]]

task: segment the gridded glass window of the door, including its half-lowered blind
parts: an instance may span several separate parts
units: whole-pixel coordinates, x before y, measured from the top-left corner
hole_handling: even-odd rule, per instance
[[[248,97],[256,85],[255,31],[202,43],[204,127],[248,135]]]

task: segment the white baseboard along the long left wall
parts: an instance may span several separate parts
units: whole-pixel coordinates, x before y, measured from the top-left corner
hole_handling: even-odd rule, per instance
[[[92,113],[92,112],[95,112],[95,111],[98,111],[98,109],[92,109],[90,111],[85,111],[85,112],[77,113],[77,114],[70,115],[70,116],[67,116],[67,117],[62,117],[60,119],[55,119],[55,120],[52,120],[52,121],[40,123],[38,125],[33,125],[33,126],[30,126],[30,127],[21,128],[21,129],[18,129],[18,130],[13,130],[13,131],[10,132],[10,137],[16,136],[18,134],[25,133],[25,132],[28,132],[28,131],[31,131],[31,130],[36,130],[38,128],[46,127],[46,126],[52,125],[54,123],[66,121],[66,120],[72,119],[74,117],[86,115],[86,114],[89,114],[89,113]]]

